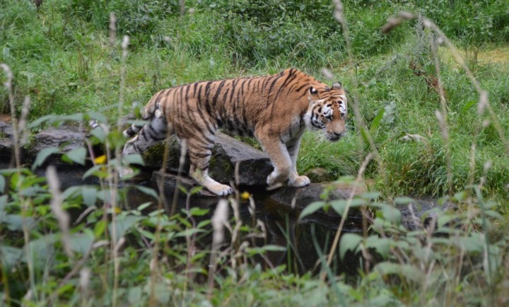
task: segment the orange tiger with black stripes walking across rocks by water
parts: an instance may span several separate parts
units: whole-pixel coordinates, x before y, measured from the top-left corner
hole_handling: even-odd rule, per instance
[[[153,95],[142,114],[146,124],[133,124],[123,132],[131,139],[122,154],[142,153],[175,134],[187,143],[189,176],[225,196],[233,188],[208,174],[214,136],[223,128],[258,140],[274,167],[267,177],[269,187],[284,183],[302,187],[310,184],[296,167],[305,128],[324,131],[325,138],[334,142],[346,132],[346,115],[341,83],[329,87],[296,68],[269,76],[200,81]]]

